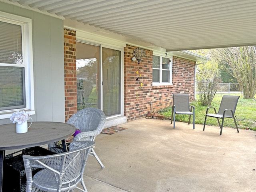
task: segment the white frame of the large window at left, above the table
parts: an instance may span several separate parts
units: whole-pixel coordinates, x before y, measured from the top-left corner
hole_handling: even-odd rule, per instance
[[[10,118],[13,112],[17,110],[26,110],[30,115],[35,114],[34,104],[34,74],[33,74],[33,47],[32,47],[32,20],[14,14],[0,12],[0,21],[21,26],[22,30],[22,57],[23,66],[25,68],[25,95],[26,107],[13,110],[0,111],[0,119]],[[1,66],[12,66],[10,64],[2,64]],[[20,65],[19,65],[20,66]]]

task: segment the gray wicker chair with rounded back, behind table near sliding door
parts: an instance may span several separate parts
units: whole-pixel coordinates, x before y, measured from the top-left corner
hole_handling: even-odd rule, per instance
[[[104,112],[98,108],[84,108],[72,115],[67,123],[81,130],[81,133],[77,134],[73,141],[94,141],[95,137],[100,134],[105,126],[106,116]],[[57,147],[55,143],[48,144],[48,149],[56,153],[63,152],[62,148]],[[101,168],[104,169],[105,166],[98,158],[94,149],[92,149],[90,156],[94,156]]]

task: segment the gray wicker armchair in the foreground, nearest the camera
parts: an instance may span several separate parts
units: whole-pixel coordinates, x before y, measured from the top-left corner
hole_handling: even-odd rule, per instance
[[[70,151],[47,156],[24,155],[26,192],[37,190],[48,192],[69,192],[77,188],[87,192],[84,184],[84,169],[93,141],[70,143]],[[32,176],[32,168],[42,168]],[[77,185],[81,183],[82,188]]]

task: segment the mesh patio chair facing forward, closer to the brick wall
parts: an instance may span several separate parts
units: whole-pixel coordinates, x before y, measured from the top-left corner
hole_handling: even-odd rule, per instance
[[[188,124],[190,124],[191,115],[193,115],[193,129],[195,129],[195,107],[190,106],[189,94],[174,93],[171,124],[173,120],[173,128],[175,128],[175,115],[185,114],[189,115]]]

